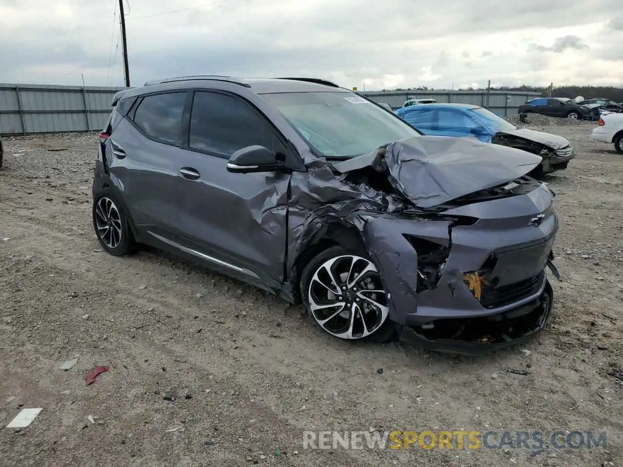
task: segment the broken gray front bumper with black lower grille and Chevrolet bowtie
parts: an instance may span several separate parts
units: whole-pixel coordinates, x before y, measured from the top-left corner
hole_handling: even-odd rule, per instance
[[[549,319],[558,275],[553,194],[530,177],[364,229],[402,340],[481,354],[528,339]],[[389,253],[388,253],[389,252]]]

